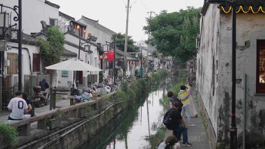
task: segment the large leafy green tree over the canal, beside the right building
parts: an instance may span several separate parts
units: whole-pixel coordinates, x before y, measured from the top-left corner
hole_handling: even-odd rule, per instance
[[[158,52],[185,62],[196,54],[196,36],[199,33],[201,8],[187,7],[180,12],[161,13],[147,19],[143,29],[151,34],[147,43],[156,46]]]

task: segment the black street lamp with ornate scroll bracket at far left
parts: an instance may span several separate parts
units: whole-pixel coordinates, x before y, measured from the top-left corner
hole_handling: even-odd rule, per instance
[[[16,13],[16,16],[13,17],[13,20],[15,22],[18,22],[18,30],[13,30],[12,27],[16,26],[10,25],[9,23],[9,13],[6,13],[6,11],[2,11],[3,8],[11,9]],[[15,5],[13,7],[5,6],[3,4],[0,4],[0,38],[5,39],[7,34],[7,30],[10,29],[10,34],[8,35],[10,39],[18,39],[18,90],[22,90],[22,0],[18,0],[18,6]],[[11,14],[11,13],[10,13]],[[10,20],[11,21],[11,20]],[[15,27],[15,28],[16,28]],[[4,51],[2,51],[1,55],[3,55]],[[1,59],[3,56],[1,57]],[[3,65],[3,64],[2,64]]]

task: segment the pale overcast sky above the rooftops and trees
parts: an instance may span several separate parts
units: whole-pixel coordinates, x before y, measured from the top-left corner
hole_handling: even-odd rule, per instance
[[[125,33],[127,0],[49,0],[60,5],[60,11],[76,20],[81,16],[99,20],[101,25],[115,31]],[[130,0],[129,35],[134,41],[147,40],[143,31],[147,12],[159,14],[161,10],[168,12],[185,9],[186,6],[202,7],[204,0]],[[154,15],[154,14],[153,14]],[[88,28],[87,31],[89,32]]]

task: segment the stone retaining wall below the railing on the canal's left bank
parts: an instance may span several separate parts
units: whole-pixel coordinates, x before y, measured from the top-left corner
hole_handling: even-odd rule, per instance
[[[99,129],[119,115],[122,110],[126,109],[127,104],[124,104],[124,102],[126,100],[113,103],[106,109],[102,109],[99,114],[82,121],[72,120],[72,124],[64,121],[65,123],[62,124],[64,129],[60,129],[50,135],[47,134],[47,131],[42,130],[43,132],[39,132],[35,136],[35,138],[39,139],[27,143],[20,149],[74,149],[91,138]],[[69,121],[71,121],[71,118]]]

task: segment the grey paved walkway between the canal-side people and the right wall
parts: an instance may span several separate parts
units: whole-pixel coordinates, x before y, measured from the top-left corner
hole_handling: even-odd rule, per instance
[[[192,97],[194,99],[194,104],[196,106],[197,112],[198,112],[198,106],[197,106],[197,100],[196,100],[196,91],[192,91]],[[211,149],[206,130],[204,128],[204,125],[202,123],[202,118],[200,117],[200,114],[198,112],[198,118],[191,118],[192,123],[196,124],[196,126],[189,126],[188,128],[188,142],[192,144],[191,147],[183,147],[182,149]],[[185,118],[185,122],[187,122]],[[170,131],[167,131],[165,135],[169,135]],[[182,144],[182,142],[180,142]]]

